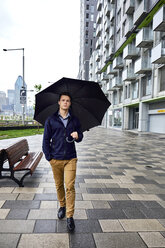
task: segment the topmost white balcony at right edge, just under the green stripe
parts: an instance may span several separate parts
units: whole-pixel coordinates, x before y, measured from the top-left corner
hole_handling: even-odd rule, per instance
[[[165,31],[165,5],[154,15],[153,18],[153,30],[154,31]]]

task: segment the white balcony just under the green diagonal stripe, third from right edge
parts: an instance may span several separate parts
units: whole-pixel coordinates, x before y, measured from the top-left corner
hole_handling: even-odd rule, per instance
[[[140,54],[139,48],[128,44],[123,50],[123,59],[136,59]]]

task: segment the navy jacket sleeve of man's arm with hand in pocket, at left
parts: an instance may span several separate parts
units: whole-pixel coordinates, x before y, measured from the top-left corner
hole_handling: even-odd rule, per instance
[[[45,122],[45,128],[44,128],[44,136],[43,136],[43,142],[42,142],[42,150],[45,154],[45,158],[50,161],[50,141],[52,138],[52,132],[51,132],[51,126],[50,126],[50,120],[49,118]]]

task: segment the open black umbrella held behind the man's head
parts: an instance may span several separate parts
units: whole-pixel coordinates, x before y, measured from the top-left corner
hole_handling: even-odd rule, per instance
[[[65,77],[35,95],[34,119],[44,125],[48,116],[58,110],[59,95],[63,92],[72,97],[71,111],[79,119],[82,131],[101,124],[110,102],[99,84]]]

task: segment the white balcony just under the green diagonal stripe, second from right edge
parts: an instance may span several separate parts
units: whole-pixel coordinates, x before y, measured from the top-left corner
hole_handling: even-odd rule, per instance
[[[144,27],[136,35],[136,47],[147,48],[153,44],[153,31]]]

